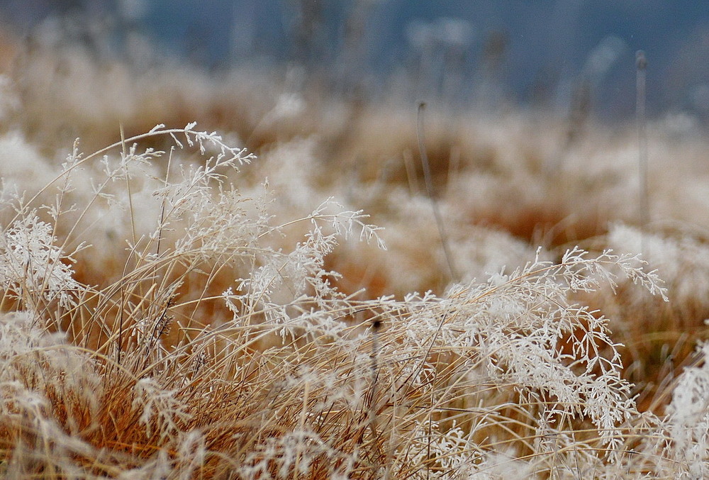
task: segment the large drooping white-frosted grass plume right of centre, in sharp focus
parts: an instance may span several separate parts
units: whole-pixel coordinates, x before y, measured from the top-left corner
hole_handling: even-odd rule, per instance
[[[492,414],[499,406],[487,403],[492,394],[477,393],[481,388],[476,384],[511,388],[520,406],[537,417],[535,428],[564,418],[588,420],[606,452],[616,457],[623,445],[622,425],[637,413],[630,384],[620,376],[623,365],[608,320],[570,303],[569,293],[613,286],[615,269],[663,293],[654,273],[630,262],[611,252],[594,258],[571,250],[559,264],[537,259],[512,274],[493,275],[486,284],[454,286],[446,298],[409,297],[406,342],[419,352],[445,348],[460,356],[465,376],[450,374],[457,379],[457,388],[447,391],[451,399],[468,397],[468,404],[487,406]],[[408,378],[427,391],[441,375],[438,368],[422,360]]]

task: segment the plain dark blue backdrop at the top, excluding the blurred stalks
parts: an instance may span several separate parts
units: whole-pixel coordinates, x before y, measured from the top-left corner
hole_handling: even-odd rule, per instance
[[[588,77],[594,49],[605,40],[615,45],[615,60],[589,80],[596,115],[632,116],[635,51],[642,49],[649,60],[649,112],[688,111],[709,117],[709,2],[703,0],[319,0],[314,4],[320,6],[320,23],[309,54],[298,50],[294,40],[301,8],[297,0],[133,1],[143,6],[138,16],[125,14],[130,0],[3,0],[0,15],[22,34],[51,15],[113,18],[106,30],[114,38],[123,38],[116,33],[128,28],[150,38],[163,55],[193,65],[224,69],[299,62],[348,78],[356,72],[367,77],[363,84],[370,91],[391,86],[386,79],[393,75],[418,74],[420,80],[426,68],[429,84],[443,82],[450,68],[422,60],[407,28],[457,18],[471,27],[453,72],[459,76],[454,84],[459,100],[474,97],[484,76],[486,39],[498,32],[508,43],[498,70],[487,81],[494,82],[507,101],[530,105],[545,91],[547,106],[568,103],[574,85]],[[363,51],[353,60],[344,53],[344,26],[357,6],[367,6],[366,23]],[[114,40],[116,51],[121,41]],[[445,48],[438,45],[432,57],[443,55]]]

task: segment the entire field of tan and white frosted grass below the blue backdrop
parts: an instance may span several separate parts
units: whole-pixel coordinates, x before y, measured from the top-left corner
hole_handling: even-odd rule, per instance
[[[106,79],[82,58],[39,98],[46,59],[21,65],[4,103],[0,476],[709,474],[704,210],[663,196],[682,179],[700,196],[688,167],[641,229],[625,137],[562,148],[550,119],[535,136],[522,114],[433,116],[445,259],[401,110],[308,111],[307,92],[239,99],[154,73],[136,96],[240,109],[223,136],[132,134],[146,106],[122,82],[140,82],[118,74],[82,111],[72,74],[96,82],[84,95]],[[89,145],[113,140],[53,145],[43,102]],[[174,124],[170,105],[146,117]],[[123,129],[104,128],[121,108]]]

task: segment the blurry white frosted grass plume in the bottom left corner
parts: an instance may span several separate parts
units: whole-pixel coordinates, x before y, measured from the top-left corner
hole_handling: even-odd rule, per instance
[[[1,316],[2,476],[31,478],[51,469],[65,478],[80,476],[77,459],[95,450],[78,435],[79,425],[84,415],[99,414],[101,389],[89,356],[65,343],[64,335],[45,332],[28,312]],[[54,408],[65,413],[62,418]]]

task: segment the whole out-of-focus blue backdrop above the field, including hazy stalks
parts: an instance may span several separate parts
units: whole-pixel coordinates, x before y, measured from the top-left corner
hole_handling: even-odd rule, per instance
[[[139,69],[287,68],[368,100],[608,120],[635,114],[642,49],[649,114],[709,121],[709,6],[696,0],[2,0],[0,21]]]

